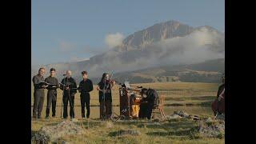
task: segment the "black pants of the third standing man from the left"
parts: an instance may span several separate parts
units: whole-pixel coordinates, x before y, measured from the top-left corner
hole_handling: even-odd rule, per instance
[[[63,97],[63,118],[67,118],[67,106],[70,102],[70,118],[74,118],[74,95],[64,95]]]

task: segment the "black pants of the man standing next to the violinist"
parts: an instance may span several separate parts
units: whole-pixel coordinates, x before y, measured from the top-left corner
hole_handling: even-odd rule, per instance
[[[86,118],[90,117],[90,94],[81,94],[80,95],[81,108],[82,108],[82,118],[85,118],[85,107],[87,110]]]

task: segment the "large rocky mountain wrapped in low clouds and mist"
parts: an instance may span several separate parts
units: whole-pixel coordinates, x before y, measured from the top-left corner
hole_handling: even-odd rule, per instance
[[[224,54],[225,34],[211,26],[192,27],[168,21],[130,34],[120,46],[89,60],[55,63],[44,67],[46,72],[51,67],[58,70],[58,78],[62,78],[65,70],[72,70],[76,79],[80,79],[82,70],[87,70],[90,78],[98,78],[103,72],[112,70],[125,74],[156,66],[184,66],[224,58]],[[32,67],[31,77],[37,74],[38,68]]]

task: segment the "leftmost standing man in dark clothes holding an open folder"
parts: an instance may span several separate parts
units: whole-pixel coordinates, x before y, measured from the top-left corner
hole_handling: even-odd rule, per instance
[[[44,89],[47,86],[41,85],[40,82],[44,82],[43,74],[45,69],[40,68],[38,74],[32,79],[34,84],[34,106],[33,106],[33,118],[41,118],[42,106],[45,97]]]

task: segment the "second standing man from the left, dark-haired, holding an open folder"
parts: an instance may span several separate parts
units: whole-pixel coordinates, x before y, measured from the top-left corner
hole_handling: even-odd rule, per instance
[[[50,83],[54,86],[47,87],[47,106],[46,106],[46,118],[49,118],[50,114],[50,105],[52,104],[52,117],[55,117],[56,113],[56,101],[57,101],[57,86],[58,86],[58,79],[54,77],[55,69],[50,69],[50,76],[46,78],[45,82]]]

